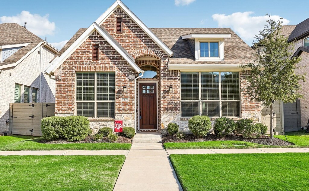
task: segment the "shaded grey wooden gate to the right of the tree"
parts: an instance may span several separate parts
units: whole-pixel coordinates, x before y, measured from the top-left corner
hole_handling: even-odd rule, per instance
[[[300,100],[297,99],[293,103],[283,104],[284,113],[284,131],[298,131],[301,126],[300,118]]]

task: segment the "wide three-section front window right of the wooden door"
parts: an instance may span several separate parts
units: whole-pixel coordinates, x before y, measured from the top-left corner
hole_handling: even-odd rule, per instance
[[[239,117],[239,72],[181,72],[181,117]]]

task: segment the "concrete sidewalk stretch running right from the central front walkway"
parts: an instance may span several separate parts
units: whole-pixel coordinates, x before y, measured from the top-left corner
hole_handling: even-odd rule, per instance
[[[167,149],[171,154],[237,154],[237,153],[283,153],[309,152],[309,148],[227,148],[227,149]]]

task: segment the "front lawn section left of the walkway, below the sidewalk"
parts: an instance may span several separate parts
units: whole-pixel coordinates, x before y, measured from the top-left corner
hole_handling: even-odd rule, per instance
[[[0,190],[112,190],[125,156],[0,156]]]

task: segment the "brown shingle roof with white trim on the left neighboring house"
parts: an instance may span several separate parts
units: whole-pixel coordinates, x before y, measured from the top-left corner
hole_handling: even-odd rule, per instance
[[[40,37],[36,36],[25,27],[17,23],[2,23],[0,24],[0,46],[28,44],[20,48],[13,55],[0,63],[0,69],[14,67],[25,59],[32,51],[45,42]],[[58,52],[56,48],[49,44],[49,49]]]

